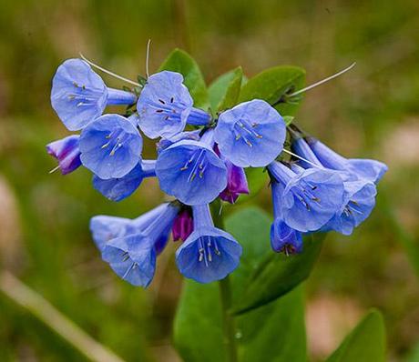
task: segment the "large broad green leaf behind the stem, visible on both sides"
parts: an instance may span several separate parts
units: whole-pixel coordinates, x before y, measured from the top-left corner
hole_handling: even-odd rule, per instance
[[[270,217],[258,208],[243,209],[226,220],[226,230],[243,246],[232,274],[233,297],[271,254]],[[302,294],[299,288],[268,306],[236,317],[240,361],[304,361],[306,355]],[[218,283],[185,280],[174,324],[174,341],[188,362],[225,361]],[[286,333],[283,333],[283,331]]]

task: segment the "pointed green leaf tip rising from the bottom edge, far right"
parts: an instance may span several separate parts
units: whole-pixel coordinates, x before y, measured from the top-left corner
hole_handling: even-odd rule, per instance
[[[344,338],[326,362],[385,361],[385,330],[380,312],[372,310]]]

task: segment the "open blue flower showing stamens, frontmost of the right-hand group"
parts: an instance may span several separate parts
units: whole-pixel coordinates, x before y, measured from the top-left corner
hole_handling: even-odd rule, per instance
[[[309,168],[295,173],[276,161],[268,168],[274,181],[283,186],[278,196],[282,220],[291,228],[302,233],[317,231],[341,209],[343,181],[337,172]]]

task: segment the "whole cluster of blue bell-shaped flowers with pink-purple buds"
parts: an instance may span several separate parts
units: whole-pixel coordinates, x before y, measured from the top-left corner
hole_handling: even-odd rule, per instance
[[[319,231],[350,235],[372,212],[386,166],[346,159],[320,141],[287,129],[261,99],[216,117],[194,106],[183,76],[162,71],[132,90],[107,87],[81,59],[60,65],[51,103],[66,128],[79,134],[46,146],[63,175],[86,167],[94,188],[119,202],[146,177],[156,177],[171,200],[136,219],[94,216],[90,230],[102,258],[122,279],[148,287],[169,235],[180,241],[176,264],[184,277],[210,283],[240,264],[241,246],[214,226],[210,204],[235,204],[250,194],[247,167],[266,167],[274,220],[271,248],[303,250],[302,236]],[[125,113],[104,114],[107,106]],[[291,138],[292,158],[282,152]],[[143,137],[158,138],[156,159],[142,156]]]

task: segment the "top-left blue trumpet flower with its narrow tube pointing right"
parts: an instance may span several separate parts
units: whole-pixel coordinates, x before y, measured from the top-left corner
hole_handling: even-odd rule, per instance
[[[87,62],[68,59],[53,78],[51,104],[70,131],[77,131],[101,116],[106,106],[132,105],[137,97],[107,87]]]

